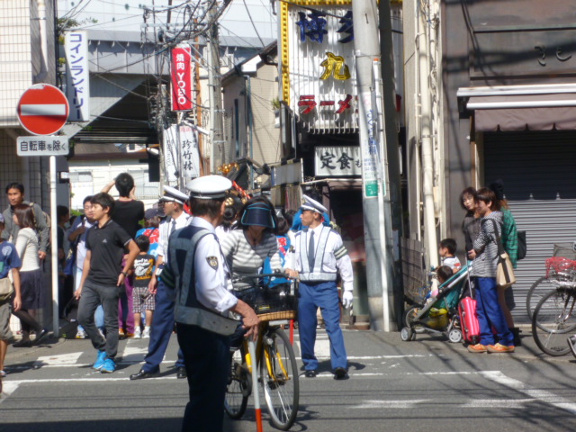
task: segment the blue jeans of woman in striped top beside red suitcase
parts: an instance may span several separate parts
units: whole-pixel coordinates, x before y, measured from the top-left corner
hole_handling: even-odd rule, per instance
[[[496,278],[477,277],[476,281],[476,312],[480,324],[480,343],[482,345],[494,345],[496,343],[492,331],[494,328],[498,333],[500,344],[507,347],[514,345],[514,335],[508,328],[498,301]]]

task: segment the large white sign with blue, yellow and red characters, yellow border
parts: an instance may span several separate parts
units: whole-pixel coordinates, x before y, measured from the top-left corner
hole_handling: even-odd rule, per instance
[[[302,7],[300,7],[302,5]],[[311,133],[357,130],[351,2],[280,4],[282,92]]]

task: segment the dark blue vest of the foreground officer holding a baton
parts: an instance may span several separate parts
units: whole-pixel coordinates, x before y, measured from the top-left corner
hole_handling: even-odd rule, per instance
[[[196,295],[194,256],[198,243],[208,235],[214,234],[205,228],[187,226],[178,229],[170,237],[170,268],[176,289],[175,321],[230,336],[238,327],[238,320],[206,308],[198,302]]]

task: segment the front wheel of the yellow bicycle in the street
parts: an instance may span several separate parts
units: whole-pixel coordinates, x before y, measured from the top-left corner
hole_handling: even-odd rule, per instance
[[[296,356],[282,329],[271,330],[263,338],[260,380],[272,424],[288,430],[298,413],[300,388]]]

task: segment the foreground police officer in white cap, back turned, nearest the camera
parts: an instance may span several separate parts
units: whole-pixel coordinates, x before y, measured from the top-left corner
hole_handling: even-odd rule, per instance
[[[229,319],[229,311],[242,317],[247,336],[257,337],[260,322],[245,302],[229,292],[229,268],[215,234],[231,186],[221,175],[205,175],[186,184],[194,217],[170,238],[162,273],[166,284],[175,285],[176,333],[190,389],[182,425],[186,432],[222,430],[229,336],[238,326],[238,320]]]

